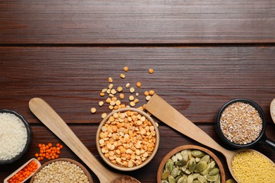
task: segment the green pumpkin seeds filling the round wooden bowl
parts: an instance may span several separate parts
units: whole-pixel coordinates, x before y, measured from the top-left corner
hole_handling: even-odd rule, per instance
[[[167,160],[161,175],[162,183],[220,183],[216,162],[203,151],[183,150]]]

